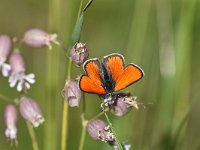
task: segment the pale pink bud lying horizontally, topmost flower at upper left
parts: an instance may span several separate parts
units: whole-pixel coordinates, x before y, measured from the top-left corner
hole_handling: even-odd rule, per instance
[[[30,29],[24,34],[24,42],[34,48],[48,46],[52,49],[51,43],[59,45],[57,34],[49,34],[41,29]]]

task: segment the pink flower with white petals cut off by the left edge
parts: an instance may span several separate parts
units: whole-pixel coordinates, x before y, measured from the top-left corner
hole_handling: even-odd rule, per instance
[[[10,65],[6,64],[6,60],[11,48],[11,39],[7,35],[0,35],[0,71],[3,76],[7,77],[10,72]]]

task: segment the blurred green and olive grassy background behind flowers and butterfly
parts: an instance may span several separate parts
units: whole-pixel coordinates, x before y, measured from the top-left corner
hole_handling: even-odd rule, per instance
[[[84,3],[86,3],[84,1]],[[0,0],[0,34],[19,39],[33,27],[57,32],[67,47],[75,25],[80,0]],[[200,149],[200,1],[198,0],[94,0],[85,14],[81,41],[90,58],[121,53],[126,63],[143,68],[145,77],[128,87],[138,97],[139,110],[124,117],[109,113],[122,142],[134,150]],[[65,52],[21,47],[27,73],[36,74],[29,96],[37,100],[46,118],[35,129],[41,150],[60,149],[62,90],[67,72]],[[82,68],[73,66],[73,78]],[[20,94],[0,77],[0,93]],[[86,117],[100,112],[96,95],[86,94]],[[26,124],[19,115],[17,147],[4,136],[0,100],[0,149],[32,149]],[[78,149],[81,134],[79,108],[69,109],[68,149]],[[102,119],[105,120],[104,117]],[[86,135],[85,150],[112,149]]]

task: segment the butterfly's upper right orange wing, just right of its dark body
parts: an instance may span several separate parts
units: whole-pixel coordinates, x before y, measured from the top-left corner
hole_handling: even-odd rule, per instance
[[[118,77],[124,71],[124,57],[120,54],[114,53],[103,58],[103,64],[105,65],[108,72],[111,74],[114,82],[117,81]]]

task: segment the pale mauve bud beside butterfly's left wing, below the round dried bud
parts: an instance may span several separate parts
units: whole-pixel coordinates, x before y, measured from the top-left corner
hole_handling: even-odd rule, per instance
[[[70,80],[65,83],[62,95],[67,100],[70,107],[79,107],[81,100],[81,90],[77,80]]]

